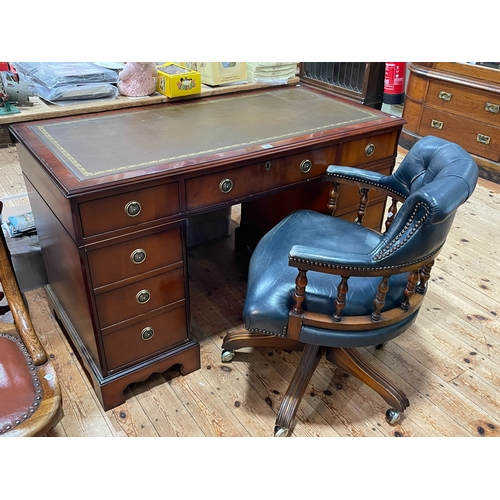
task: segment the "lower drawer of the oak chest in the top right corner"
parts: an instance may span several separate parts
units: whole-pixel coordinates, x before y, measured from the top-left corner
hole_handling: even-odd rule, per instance
[[[460,144],[469,153],[500,161],[500,128],[498,127],[444,111],[424,108],[418,134],[435,135]]]

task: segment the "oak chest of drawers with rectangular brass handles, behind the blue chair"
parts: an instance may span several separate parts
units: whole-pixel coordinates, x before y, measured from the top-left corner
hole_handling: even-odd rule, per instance
[[[465,63],[412,63],[400,145],[435,135],[460,144],[480,175],[500,182],[500,71]]]

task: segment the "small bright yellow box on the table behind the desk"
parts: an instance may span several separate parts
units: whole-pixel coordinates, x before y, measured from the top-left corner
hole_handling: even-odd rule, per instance
[[[197,71],[176,63],[158,66],[156,90],[167,97],[181,97],[201,92],[201,77]]]

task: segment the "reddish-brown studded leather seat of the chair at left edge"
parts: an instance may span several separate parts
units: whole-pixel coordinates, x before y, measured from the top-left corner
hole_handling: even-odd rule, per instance
[[[24,350],[24,351],[23,351]],[[35,410],[36,373],[26,348],[11,335],[0,334],[0,435]]]

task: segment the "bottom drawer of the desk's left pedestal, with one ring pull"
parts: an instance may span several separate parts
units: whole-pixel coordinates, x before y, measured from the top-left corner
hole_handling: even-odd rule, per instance
[[[102,333],[108,371],[138,363],[187,339],[185,304]]]

